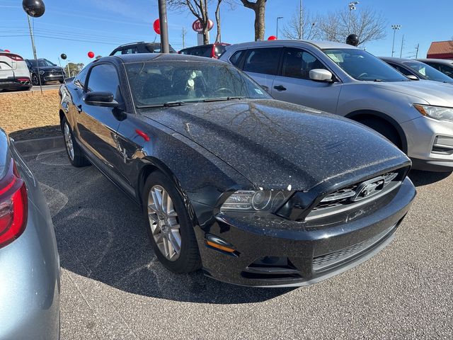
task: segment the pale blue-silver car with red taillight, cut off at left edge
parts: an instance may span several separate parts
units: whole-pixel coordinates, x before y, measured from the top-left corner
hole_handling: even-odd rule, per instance
[[[0,129],[0,339],[59,339],[59,291],[45,198]]]

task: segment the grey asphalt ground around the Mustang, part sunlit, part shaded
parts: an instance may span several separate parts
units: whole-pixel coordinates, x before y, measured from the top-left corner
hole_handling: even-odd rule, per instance
[[[26,157],[62,266],[62,339],[452,339],[453,175],[413,172],[396,238],[305,288],[241,288],[159,264],[139,208],[64,152]]]

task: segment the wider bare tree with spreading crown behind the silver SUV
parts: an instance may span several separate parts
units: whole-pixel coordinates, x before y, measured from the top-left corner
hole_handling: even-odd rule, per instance
[[[386,36],[387,21],[382,12],[362,7],[357,13],[348,9],[328,13],[319,17],[321,39],[345,42],[348,35],[354,33],[359,37],[359,45]]]

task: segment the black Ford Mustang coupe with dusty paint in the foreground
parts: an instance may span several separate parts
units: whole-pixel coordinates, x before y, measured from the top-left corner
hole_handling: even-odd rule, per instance
[[[275,101],[217,60],[104,57],[60,95],[71,164],[142,205],[176,273],[314,283],[389,244],[415,196],[411,161],[376,132]]]

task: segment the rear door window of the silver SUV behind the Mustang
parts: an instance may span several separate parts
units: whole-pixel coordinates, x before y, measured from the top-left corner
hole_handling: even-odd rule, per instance
[[[245,72],[277,74],[280,60],[280,47],[263,47],[248,51],[246,61],[243,64]]]

